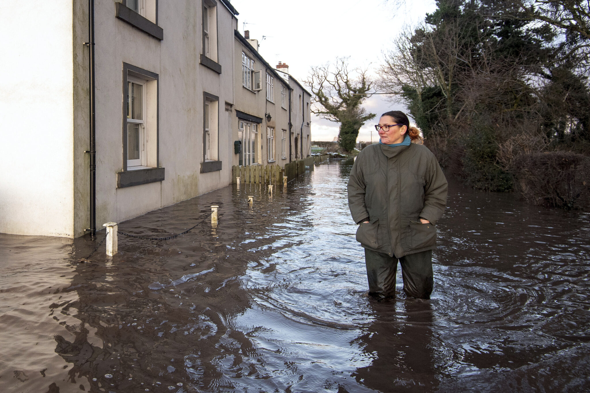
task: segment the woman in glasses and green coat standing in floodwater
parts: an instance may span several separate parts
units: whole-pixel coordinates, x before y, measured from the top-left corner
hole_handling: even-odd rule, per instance
[[[379,144],[363,148],[350,171],[348,206],[365,248],[369,295],[395,296],[398,260],[404,292],[430,299],[434,224],[447,203],[447,179],[419,130],[401,111],[383,113]]]

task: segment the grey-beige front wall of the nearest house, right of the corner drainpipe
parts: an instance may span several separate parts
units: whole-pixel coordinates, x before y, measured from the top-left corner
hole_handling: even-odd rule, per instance
[[[96,2],[95,9],[97,229],[101,229],[101,223],[122,222],[218,189],[231,181],[230,138],[224,103],[233,101],[231,45],[235,18],[218,2],[220,75],[199,64],[202,52],[200,1],[158,2],[158,25],[164,32],[162,41],[115,18],[114,3]],[[165,180],[117,188],[117,172],[123,170],[124,164],[123,63],[158,74],[158,155],[159,167],[165,169]],[[209,173],[201,173],[204,91],[219,97],[218,159],[222,161],[222,169]],[[154,100],[155,95],[150,105],[155,105]],[[151,126],[150,133],[155,135],[154,124]],[[148,137],[149,148],[153,150],[150,166],[155,166],[154,142],[153,137],[151,140]],[[76,180],[79,189],[87,187],[86,174]],[[80,193],[80,212],[87,210],[87,203],[84,206],[87,199],[87,194]],[[78,219],[79,228],[83,223],[87,225],[84,214]]]

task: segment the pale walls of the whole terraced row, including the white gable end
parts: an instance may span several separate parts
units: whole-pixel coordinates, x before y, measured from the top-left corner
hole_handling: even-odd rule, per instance
[[[290,161],[289,156],[281,158],[281,130],[289,131],[281,84],[289,88],[289,82],[250,44],[237,39],[237,19],[222,1],[217,2],[217,23],[212,24],[217,25],[217,34],[212,34],[217,35],[217,63],[201,57],[201,1],[158,1],[161,41],[117,18],[121,2],[94,4],[97,230],[102,223],[120,223],[230,184],[232,164],[239,158],[234,154],[236,110],[263,119],[259,163],[269,161],[267,127],[275,130],[271,163],[283,166]],[[8,169],[0,174],[0,232],[81,236],[90,218],[89,49],[83,45],[89,41],[87,2],[13,3],[0,7],[0,32],[7,38],[0,41],[0,51],[10,59],[0,62],[0,162]],[[155,22],[152,11],[146,16]],[[242,87],[242,50],[255,60],[256,70],[263,70],[261,91]],[[146,166],[165,171],[164,180],[134,186],[117,183],[120,173],[130,173],[123,132],[127,68],[148,75]],[[266,72],[274,78],[272,101],[266,98]],[[204,166],[205,94],[218,97],[221,163]],[[299,108],[294,97],[291,104]],[[293,131],[299,129],[294,117]]]

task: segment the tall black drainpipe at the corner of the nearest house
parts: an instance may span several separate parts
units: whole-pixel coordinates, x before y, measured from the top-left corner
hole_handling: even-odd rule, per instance
[[[94,0],[88,0],[88,40],[84,42],[90,49],[89,90],[90,90],[90,232],[96,236],[96,105],[94,103]]]

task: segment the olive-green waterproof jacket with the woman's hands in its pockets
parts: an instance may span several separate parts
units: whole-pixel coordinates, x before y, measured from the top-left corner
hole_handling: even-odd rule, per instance
[[[350,171],[348,206],[366,249],[399,258],[436,248],[435,224],[446,203],[447,179],[425,146],[373,144]]]

